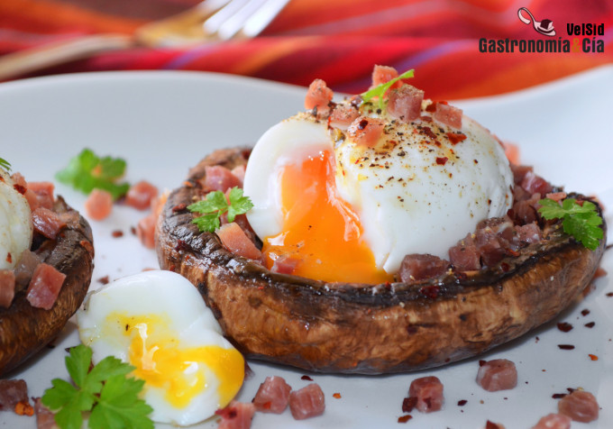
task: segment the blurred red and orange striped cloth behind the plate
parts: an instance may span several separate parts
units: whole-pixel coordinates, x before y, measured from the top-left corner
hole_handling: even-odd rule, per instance
[[[195,4],[197,0],[2,0],[0,55],[90,34],[131,35],[144,23]],[[520,21],[517,11],[522,7],[537,22],[552,21],[555,36]],[[569,34],[569,25],[574,29],[584,23],[600,26],[604,33]],[[536,51],[523,51],[530,41]],[[510,48],[514,51],[506,51]],[[334,90],[361,92],[370,85],[373,64],[385,64],[399,71],[415,68],[413,84],[424,88],[426,96],[458,99],[532,87],[610,63],[611,0],[292,0],[252,40],[186,48],[137,46],[20,78],[180,69],[302,86],[323,78]]]

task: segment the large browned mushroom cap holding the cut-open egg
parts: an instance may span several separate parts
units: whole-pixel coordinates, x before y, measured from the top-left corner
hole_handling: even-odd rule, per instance
[[[603,240],[596,251],[586,249],[557,223],[547,240],[472,273],[380,285],[274,273],[225,250],[215,233],[200,233],[186,209],[198,196],[206,166],[233,169],[248,156],[248,149],[237,148],[200,161],[169,195],[156,236],[160,267],[188,278],[225,335],[253,359],[379,374],[470,358],[570,306],[590,283],[605,248]]]

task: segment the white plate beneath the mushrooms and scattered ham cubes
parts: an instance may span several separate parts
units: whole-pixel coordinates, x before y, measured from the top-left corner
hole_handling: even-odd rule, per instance
[[[555,184],[599,193],[613,204],[613,67],[508,96],[459,103],[472,117],[506,141],[521,147],[521,158]],[[261,132],[302,109],[304,88],[205,73],[134,72],[68,75],[0,85],[0,156],[30,180],[48,180],[69,157],[85,147],[128,160],[127,179],[145,178],[161,189],[178,187],[188,168],[223,146],[256,141]],[[427,95],[426,95],[427,96]],[[85,197],[57,185],[59,194],[82,210]],[[115,207],[104,222],[92,222],[98,278],[119,278],[157,268],[153,251],[130,233],[142,213]],[[609,219],[609,224],[610,224]],[[115,230],[122,238],[112,238]],[[613,274],[606,254],[603,267]],[[444,410],[412,413],[407,427],[482,428],[487,420],[508,429],[528,428],[556,411],[556,393],[585,388],[598,397],[600,417],[573,428],[613,427],[613,292],[610,276],[553,322],[480,357],[444,368],[393,376],[348,377],[307,374],[325,392],[325,414],[295,421],[256,414],[252,428],[397,428],[402,399],[411,380],[435,375],[444,383]],[[589,315],[581,315],[588,309]],[[562,333],[558,322],[574,327]],[[584,324],[595,322],[592,328]],[[23,378],[31,397],[41,396],[50,380],[67,377],[65,348],[78,344],[76,326],[67,325],[54,348],[46,348],[10,378]],[[572,344],[572,351],[558,348]],[[598,356],[592,361],[590,354]],[[515,361],[517,388],[489,393],[475,383],[480,359]],[[261,381],[280,375],[302,388],[304,371],[250,362],[254,376],[238,399],[251,401]],[[339,393],[340,397],[333,397]],[[466,400],[459,406],[458,402]],[[0,427],[33,428],[35,420],[0,413]],[[208,421],[197,427],[216,427]]]

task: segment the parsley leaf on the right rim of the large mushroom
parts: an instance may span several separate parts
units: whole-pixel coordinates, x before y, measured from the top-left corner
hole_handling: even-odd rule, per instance
[[[599,241],[604,234],[602,228],[599,227],[602,224],[602,218],[595,204],[583,201],[583,204],[580,205],[575,198],[566,198],[562,205],[551,198],[544,198],[538,204],[541,205],[538,213],[545,219],[563,219],[564,233],[572,235],[590,251],[598,248]]]

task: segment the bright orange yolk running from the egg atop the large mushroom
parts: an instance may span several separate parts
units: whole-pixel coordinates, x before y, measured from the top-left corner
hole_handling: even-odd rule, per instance
[[[280,256],[297,260],[292,274],[325,281],[382,283],[392,277],[377,269],[352,207],[338,196],[330,151],[290,163],[280,173],[283,228],[266,237],[268,267]]]

